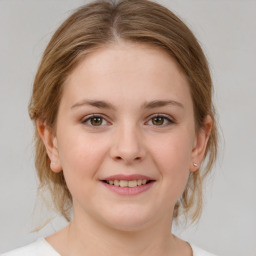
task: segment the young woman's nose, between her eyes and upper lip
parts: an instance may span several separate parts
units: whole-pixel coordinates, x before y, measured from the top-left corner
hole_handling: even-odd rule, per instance
[[[146,156],[144,139],[136,126],[117,128],[110,150],[111,158],[127,165],[142,161]]]

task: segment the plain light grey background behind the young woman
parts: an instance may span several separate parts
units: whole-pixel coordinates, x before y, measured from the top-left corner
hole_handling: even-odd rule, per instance
[[[0,252],[58,230],[36,197],[33,78],[51,35],[82,0],[0,0]],[[220,256],[256,255],[256,1],[161,0],[209,59],[221,126],[219,160],[198,225],[176,234]],[[35,204],[38,206],[35,209]]]

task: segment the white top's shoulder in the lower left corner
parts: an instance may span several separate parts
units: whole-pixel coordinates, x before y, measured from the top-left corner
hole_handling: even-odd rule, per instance
[[[1,256],[60,256],[44,238],[24,247],[1,254]]]

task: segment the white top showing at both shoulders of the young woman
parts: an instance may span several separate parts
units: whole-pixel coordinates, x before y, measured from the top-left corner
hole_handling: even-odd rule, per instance
[[[194,245],[191,245],[193,256],[216,256],[206,252]],[[16,250],[1,254],[1,256],[61,256],[55,249],[44,239],[40,238],[36,242]]]

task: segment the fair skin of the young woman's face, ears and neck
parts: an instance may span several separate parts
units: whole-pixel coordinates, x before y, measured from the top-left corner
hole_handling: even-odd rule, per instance
[[[192,255],[170,233],[172,213],[211,118],[196,132],[188,82],[169,55],[126,42],[94,51],[64,83],[54,132],[37,126],[73,198],[73,221],[47,238],[61,255]]]

